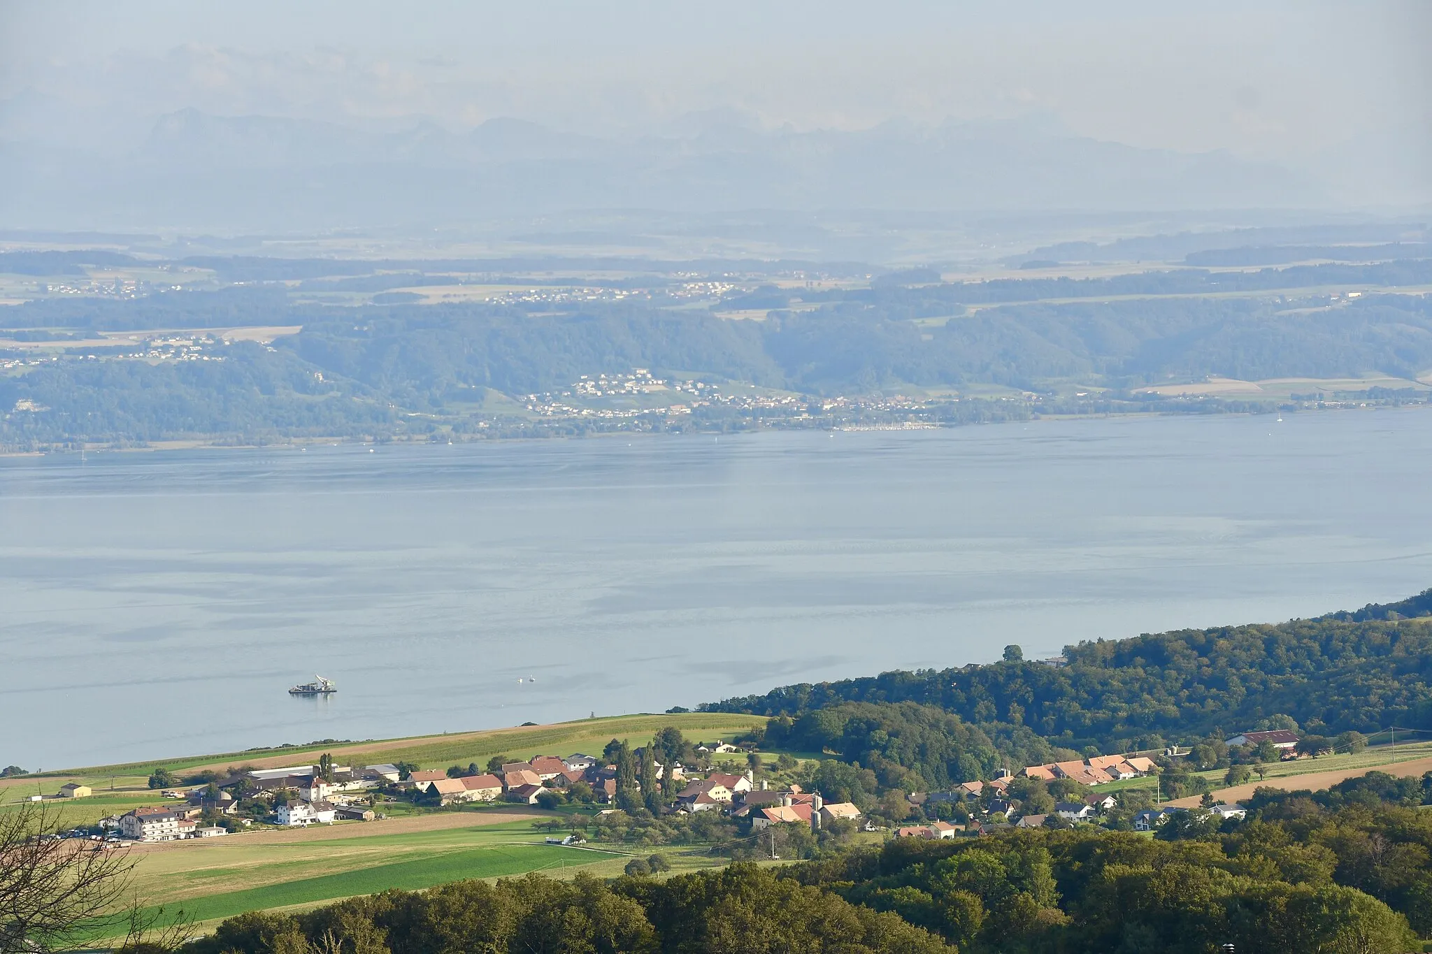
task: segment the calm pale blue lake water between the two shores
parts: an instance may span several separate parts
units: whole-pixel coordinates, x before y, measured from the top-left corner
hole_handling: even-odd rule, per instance
[[[0,765],[1356,608],[1432,585],[1429,475],[1419,410],[4,459]]]

